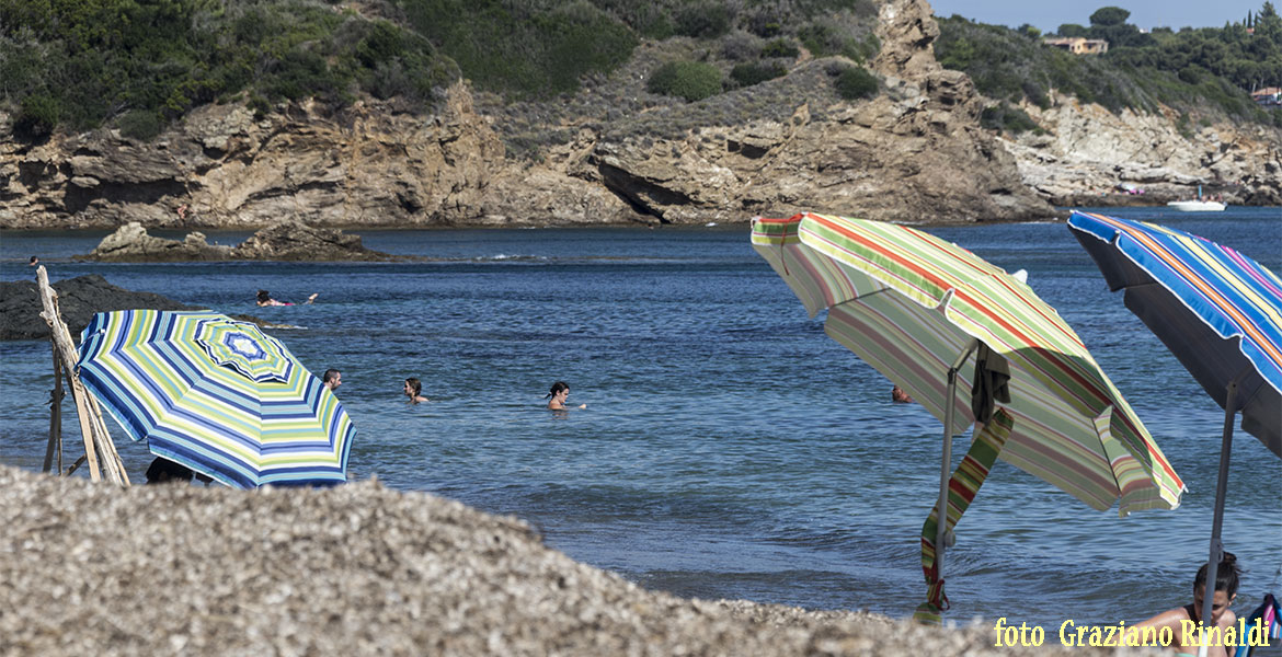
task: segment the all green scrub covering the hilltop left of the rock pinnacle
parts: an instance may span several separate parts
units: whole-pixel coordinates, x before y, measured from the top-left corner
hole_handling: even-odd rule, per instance
[[[655,88],[696,100],[782,76],[801,47],[863,61],[879,47],[874,15],[873,0],[0,0],[0,109],[29,137],[150,138],[235,99],[265,113],[369,95],[431,111],[460,77],[540,101],[669,37],[706,44],[705,61]]]

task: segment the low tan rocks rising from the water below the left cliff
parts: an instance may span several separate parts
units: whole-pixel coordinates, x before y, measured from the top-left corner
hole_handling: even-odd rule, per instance
[[[365,248],[359,236],[331,228],[313,228],[296,218],[282,219],[232,246],[210,246],[204,233],[188,233],[182,241],[147,234],[129,222],[103,238],[94,252],[79,260],[110,263],[177,263],[191,260],[301,260],[385,261],[397,256]]]

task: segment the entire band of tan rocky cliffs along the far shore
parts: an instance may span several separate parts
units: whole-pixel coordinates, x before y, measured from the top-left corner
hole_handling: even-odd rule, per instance
[[[1235,128],[1200,150],[1154,149],[1137,120],[1168,119],[1064,102],[1037,117],[1049,137],[1000,140],[979,127],[986,101],[969,78],[936,63],[938,28],[924,0],[885,3],[877,36],[882,92],[862,101],[833,90],[847,60],[804,53],[782,78],[691,104],[645,100],[649,73],[674,49],[697,46],[644,45],[606,85],[533,108],[545,131],[565,136],[533,156],[505,149],[501,104],[478,102],[467,82],[426,118],[372,100],[337,114],[296,104],[262,117],[228,104],[145,143],[113,131],[38,145],[5,138],[0,228],[256,228],[281,216],[319,227],[694,224],[797,210],[1019,220],[1123,175],[1246,179],[1241,200],[1278,202],[1276,134]],[[594,93],[613,108],[559,110]],[[1242,140],[1258,146],[1233,146]],[[1259,178],[1272,187],[1250,184]]]

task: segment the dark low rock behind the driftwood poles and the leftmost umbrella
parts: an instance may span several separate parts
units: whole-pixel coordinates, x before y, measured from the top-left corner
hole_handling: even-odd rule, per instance
[[[58,292],[58,310],[79,336],[95,312],[112,310],[200,310],[151,292],[115,287],[97,274],[50,283]],[[0,339],[49,339],[49,324],[40,312],[40,287],[35,280],[0,282]]]

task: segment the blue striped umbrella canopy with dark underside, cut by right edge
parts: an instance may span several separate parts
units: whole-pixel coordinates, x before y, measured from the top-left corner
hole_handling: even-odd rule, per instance
[[[1149,223],[1073,213],[1068,227],[1114,292],[1242,430],[1282,457],[1282,280],[1201,237]]]

